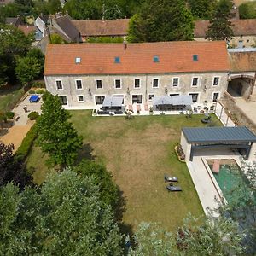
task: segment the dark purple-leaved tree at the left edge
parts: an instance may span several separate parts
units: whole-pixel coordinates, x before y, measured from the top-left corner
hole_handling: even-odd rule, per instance
[[[13,144],[0,142],[0,186],[13,182],[24,189],[26,185],[32,185],[32,176],[23,163],[15,160],[13,150]]]

